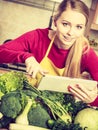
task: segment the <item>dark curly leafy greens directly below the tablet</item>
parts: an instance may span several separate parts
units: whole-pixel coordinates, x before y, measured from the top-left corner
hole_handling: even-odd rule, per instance
[[[49,100],[53,102],[59,102],[62,107],[70,113],[72,117],[72,121],[74,120],[76,114],[84,109],[87,108],[88,105],[84,103],[83,101],[77,101],[74,99],[74,96],[68,93],[61,93],[61,92],[55,92],[55,91],[48,91],[44,90],[41,91],[41,95],[48,98]]]

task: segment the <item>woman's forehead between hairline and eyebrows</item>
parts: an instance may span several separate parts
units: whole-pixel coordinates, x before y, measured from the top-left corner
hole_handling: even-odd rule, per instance
[[[72,9],[65,10],[61,14],[60,19],[68,21],[73,24],[83,24],[83,25],[86,24],[86,17],[82,13],[79,13]]]

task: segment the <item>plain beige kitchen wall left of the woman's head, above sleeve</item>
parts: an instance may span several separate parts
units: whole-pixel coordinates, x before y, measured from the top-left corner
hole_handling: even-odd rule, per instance
[[[0,43],[26,31],[48,27],[51,11],[0,0]]]

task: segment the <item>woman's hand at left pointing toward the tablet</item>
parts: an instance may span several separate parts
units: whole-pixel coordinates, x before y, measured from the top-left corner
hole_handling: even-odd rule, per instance
[[[26,71],[28,74],[32,75],[33,78],[36,77],[37,73],[39,72],[42,75],[48,73],[48,71],[44,70],[40,64],[36,61],[36,59],[32,56],[25,60],[26,64]]]

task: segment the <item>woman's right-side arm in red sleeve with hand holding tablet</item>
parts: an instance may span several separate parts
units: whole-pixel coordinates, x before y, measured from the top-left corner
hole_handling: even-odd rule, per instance
[[[82,57],[82,66],[90,73],[92,80],[98,81],[98,56],[92,48]],[[92,105],[98,106],[98,86],[89,90],[82,85],[69,86],[69,91],[80,100]]]

